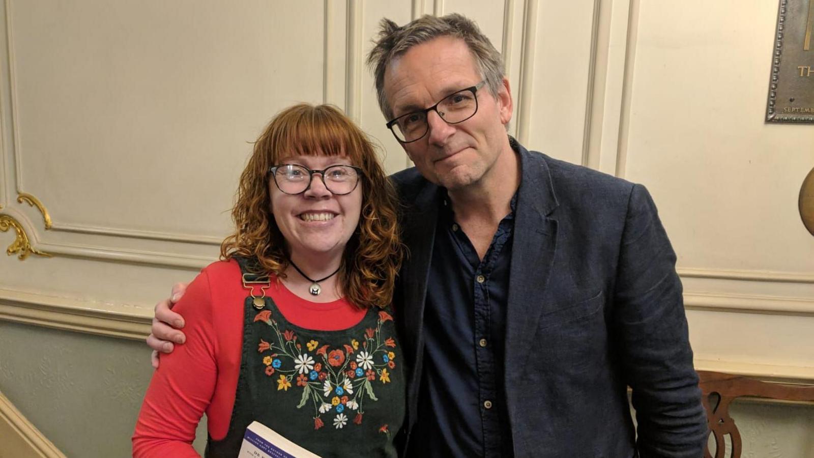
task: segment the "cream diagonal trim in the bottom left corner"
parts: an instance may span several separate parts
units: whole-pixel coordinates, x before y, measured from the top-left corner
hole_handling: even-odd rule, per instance
[[[53,443],[0,393],[0,456],[65,458]]]

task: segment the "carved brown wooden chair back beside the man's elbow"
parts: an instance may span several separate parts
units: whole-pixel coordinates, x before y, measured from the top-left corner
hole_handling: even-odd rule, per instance
[[[751,396],[786,401],[814,401],[814,386],[783,385],[721,372],[698,371],[698,376],[701,377],[698,385],[703,394],[704,408],[707,409],[710,434],[715,437],[714,458],[724,458],[724,436],[727,434],[732,443],[731,458],[741,458],[741,434],[735,421],[729,416],[729,404],[733,399]],[[704,449],[704,458],[713,458],[708,445]]]

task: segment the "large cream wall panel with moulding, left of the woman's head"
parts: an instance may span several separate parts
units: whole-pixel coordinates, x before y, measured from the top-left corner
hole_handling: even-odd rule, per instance
[[[74,3],[71,9],[60,9],[56,2],[7,0],[2,21],[6,29],[2,34],[6,40],[2,68],[2,133],[7,162],[12,166],[4,170],[4,182],[15,183],[15,188],[5,187],[4,192],[31,192],[40,197],[54,215],[51,233],[29,233],[28,236],[56,254],[81,258],[180,267],[203,266],[215,258],[217,245],[230,226],[225,210],[230,207],[234,182],[251,152],[251,145],[246,142],[256,137],[274,112],[297,100],[329,101],[340,107],[345,104],[337,96],[334,82],[344,80],[347,73],[337,65],[346,60],[346,21],[337,21],[334,14],[336,11],[344,13],[345,8],[334,3],[297,2],[297,7],[287,8],[294,11],[288,13],[290,18],[281,21],[275,38],[263,34],[269,33],[263,18],[280,11],[272,11],[272,4],[265,2],[224,11],[212,11],[217,8],[217,3],[212,2],[208,8],[192,10],[196,21],[185,22],[189,11],[181,3],[122,2],[110,8],[99,2],[85,1]],[[314,6],[318,8],[312,8]],[[304,72],[301,71],[303,68],[291,65],[298,62],[293,59],[297,50],[287,46],[264,46],[282,42],[282,37],[293,36],[291,32],[301,29],[297,26],[303,18],[313,17],[314,9],[323,16],[320,18],[323,27],[318,29],[322,35],[309,33],[303,36],[300,33],[300,37],[313,37],[305,43],[306,46],[300,43],[303,48],[300,52],[319,55],[322,59],[306,59],[315,61],[320,71]],[[59,17],[56,17],[57,11],[61,11]],[[128,17],[122,17],[125,15]],[[101,20],[91,20],[94,17]],[[55,27],[44,32],[42,22],[55,23]],[[248,31],[243,35],[234,33],[231,27],[234,22],[242,23],[243,29]],[[105,24],[114,25],[108,27]],[[135,39],[120,36],[116,25],[129,28]],[[256,27],[252,29],[253,26]],[[146,29],[150,31],[144,32]],[[238,37],[224,37],[222,33],[227,29],[230,35]],[[217,40],[210,39],[196,45],[196,39],[213,33],[223,42],[214,43]],[[155,42],[156,38],[147,35],[155,35],[163,41]],[[186,35],[190,38],[185,38]],[[254,47],[246,46],[248,51],[240,55],[238,49],[252,42],[257,43]],[[161,48],[169,48],[169,51],[164,52]],[[266,49],[283,50],[275,51],[277,57],[290,56],[282,59],[287,60],[289,65],[286,67],[291,68],[287,76],[286,72],[279,71],[276,60],[281,59],[274,59],[275,56],[268,55]],[[338,50],[341,52],[335,56],[333,53]],[[234,77],[234,73],[247,73],[225,58],[233,51],[243,57],[240,64],[252,63],[247,68],[256,74],[244,78],[248,81],[241,81],[254,83],[250,84],[253,90],[234,90],[230,95],[236,97],[231,101],[231,97],[219,99],[212,96],[218,92],[212,88],[232,90],[234,88],[227,84],[230,77]],[[184,61],[182,55],[186,54],[194,56]],[[206,58],[224,59],[217,63],[218,68],[237,69],[217,74],[208,67]],[[138,86],[126,75],[125,70],[133,70],[134,61],[138,61],[138,67],[152,65],[152,72],[142,76],[152,77],[154,81]],[[105,67],[103,63],[109,65]],[[194,74],[184,73],[184,68],[195,64],[214,74],[196,79]],[[49,67],[61,68],[63,76],[57,80],[53,74],[59,72],[42,71]],[[165,83],[164,77],[171,82]],[[83,79],[91,82],[82,83],[80,80]],[[184,82],[180,83],[182,80]],[[175,99],[162,87],[172,84],[178,86],[173,89],[182,89],[175,91],[180,93]],[[94,99],[89,93],[91,86],[97,86],[101,92],[108,90],[110,94],[107,95],[115,95],[118,99]],[[71,94],[72,90],[74,94]],[[142,93],[133,98],[131,93],[139,90]],[[82,109],[76,105],[80,98],[99,114],[95,117],[75,116],[75,111]],[[195,106],[196,99],[207,98],[203,107]],[[149,103],[141,103],[138,99],[149,99]],[[254,102],[247,102],[247,99],[254,99]],[[120,116],[107,116],[108,112],[113,114],[107,105],[116,103],[120,105],[116,109],[129,114],[129,119],[121,121]],[[248,108],[243,112],[255,114],[245,117],[220,114],[237,112],[231,108],[237,108],[238,103],[239,108]],[[190,109],[193,107],[197,109]],[[203,116],[200,111],[204,112]],[[190,115],[193,119],[176,116],[179,114]],[[162,116],[160,121],[150,121]],[[239,134],[216,130],[213,136],[229,140],[206,151],[205,148],[196,148],[201,145],[199,139],[195,140],[197,144],[195,141],[187,144],[186,139],[170,141],[175,136],[175,126],[182,136],[199,138],[204,130],[219,125],[224,118],[232,120],[232,125],[238,129],[230,130],[239,130]],[[178,121],[181,119],[183,121]],[[142,125],[120,124],[127,121],[142,121]],[[59,129],[66,123],[72,127],[70,132],[68,128]],[[122,140],[129,141],[118,143],[114,140],[119,139],[109,134],[106,137],[106,130],[116,131]],[[128,135],[134,138],[127,138]],[[140,138],[149,136],[163,138],[167,144],[151,145],[146,140],[139,143]],[[153,146],[156,148],[148,148]],[[224,155],[223,151],[238,154]],[[147,159],[144,158],[146,152]],[[111,161],[111,157],[116,160]],[[166,166],[151,166],[152,161],[161,165],[166,163]],[[217,161],[224,166],[213,166]],[[190,163],[194,166],[187,167]],[[172,174],[165,171],[173,167]],[[123,173],[127,169],[135,171]],[[229,172],[228,177],[225,172]],[[179,186],[170,183],[173,181]],[[204,183],[212,181],[216,184]],[[220,186],[218,182],[221,182]],[[217,190],[207,196],[210,187]],[[203,194],[196,196],[196,192],[189,191],[190,188]],[[30,215],[31,220],[34,218],[32,212],[36,212],[24,208],[20,211]],[[200,233],[201,228],[206,228],[208,233]]]

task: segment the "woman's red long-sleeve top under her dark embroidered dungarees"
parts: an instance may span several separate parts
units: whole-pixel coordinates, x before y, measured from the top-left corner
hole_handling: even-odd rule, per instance
[[[256,285],[255,295],[259,293]],[[138,414],[134,457],[199,456],[192,441],[204,412],[212,439],[225,438],[238,385],[247,295],[234,260],[212,263],[186,288],[173,307],[186,321],[186,343],[161,355]],[[288,321],[301,328],[341,330],[365,317],[365,310],[344,298],[309,302],[274,278],[266,295]]]

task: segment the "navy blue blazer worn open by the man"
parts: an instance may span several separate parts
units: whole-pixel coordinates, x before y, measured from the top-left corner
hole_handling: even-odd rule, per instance
[[[707,421],[676,254],[650,195],[512,143],[522,180],[502,382],[515,456],[703,456]],[[414,168],[392,178],[409,248],[396,322],[411,366],[405,440],[414,455],[431,447],[410,429],[421,421],[422,315],[440,188]]]

